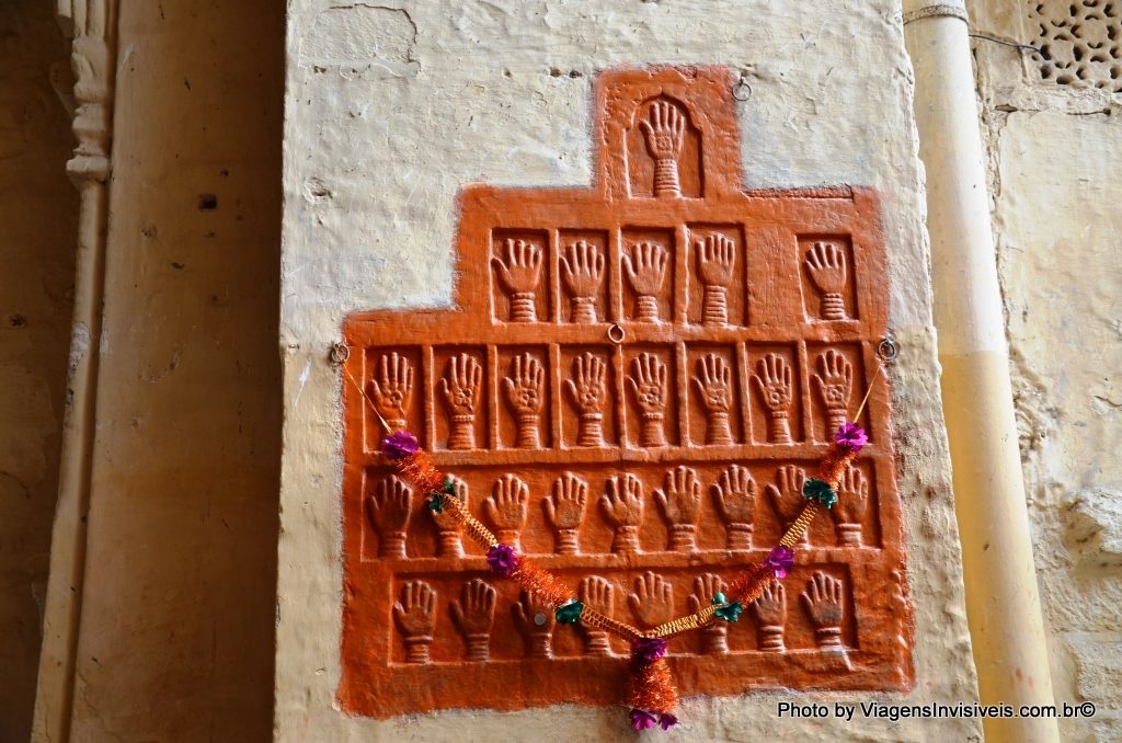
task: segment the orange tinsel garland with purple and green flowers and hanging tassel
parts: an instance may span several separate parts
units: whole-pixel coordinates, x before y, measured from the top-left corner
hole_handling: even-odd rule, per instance
[[[525,590],[541,597],[553,609],[560,624],[580,622],[632,643],[628,717],[632,727],[642,731],[655,725],[669,730],[678,724],[678,717],[673,715],[678,706],[678,689],[674,688],[673,675],[665,659],[666,637],[703,627],[714,620],[736,622],[744,607],[758,598],[764,588],[773,580],[787,577],[794,566],[794,552],[791,548],[802,538],[818,510],[829,508],[837,502],[842,475],[866,443],[868,437],[856,423],[846,423],[839,428],[834,437],[834,446],[819,468],[821,477],[806,481],[802,493],[807,505],[788,528],[780,544],[762,562],[749,566],[733,579],[724,594],[714,597],[710,606],[649,632],[642,632],[585,606],[577,600],[572,588],[560,578],[518,554],[509,545],[500,543],[456,497],[451,479],[436,469],[415,435],[408,431],[393,431],[383,440],[381,450],[397,466],[402,477],[422,493],[429,494],[427,505],[433,512],[448,510],[460,522],[465,532],[487,550],[487,566],[491,572],[500,578],[513,579]]]

